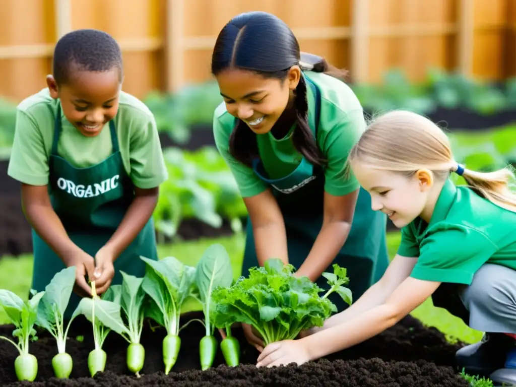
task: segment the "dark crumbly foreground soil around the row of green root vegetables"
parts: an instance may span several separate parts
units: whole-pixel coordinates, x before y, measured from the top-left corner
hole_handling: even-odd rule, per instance
[[[202,318],[198,312],[185,314],[182,324],[190,318]],[[9,335],[12,326],[0,326],[0,335]],[[192,322],[180,332],[182,346],[179,360],[172,372],[165,375],[162,360],[163,329],[155,332],[144,327],[141,343],[146,349],[146,359],[141,378],[131,375],[126,368],[127,343],[110,332],[104,344],[107,364],[104,373],[91,378],[87,358],[93,348],[91,325],[77,318],[70,328],[67,352],[73,358],[74,368],[70,380],[53,377],[52,357],[57,353],[55,340],[42,332],[39,340],[30,344],[39,362],[35,382],[17,382],[14,360],[18,355],[12,344],[0,341],[0,381],[2,385],[15,386],[448,386],[467,387],[469,384],[454,369],[454,354],[459,344],[446,342],[444,335],[434,328],[425,328],[421,322],[408,316],[396,326],[353,348],[332,354],[299,367],[294,364],[274,368],[256,368],[258,352],[249,346],[241,330],[233,329],[241,346],[240,365],[227,367],[220,349],[214,365],[204,372],[199,364],[199,341],[204,327]],[[77,334],[85,336],[77,342]],[[216,333],[217,339],[220,336]]]

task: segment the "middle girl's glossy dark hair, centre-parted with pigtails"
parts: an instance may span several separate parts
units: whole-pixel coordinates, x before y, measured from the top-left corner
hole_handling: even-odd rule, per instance
[[[261,11],[241,13],[231,19],[220,31],[212,55],[215,76],[226,69],[237,68],[283,82],[295,65],[303,70],[333,72],[333,76],[345,73],[334,71],[335,68],[317,55],[301,54],[292,30],[275,15]],[[292,136],[294,147],[313,165],[325,165],[326,160],[308,124],[307,85],[303,77],[296,89],[295,107],[298,125]],[[241,120],[237,120],[233,129],[229,148],[233,157],[248,166],[258,155],[256,135]]]

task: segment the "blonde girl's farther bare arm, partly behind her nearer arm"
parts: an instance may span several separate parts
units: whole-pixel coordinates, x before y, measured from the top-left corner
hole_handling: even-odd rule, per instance
[[[349,308],[327,319],[322,327],[315,327],[312,332],[319,332],[343,324],[368,310],[378,307],[388,299],[396,288],[405,281],[412,272],[417,258],[396,255],[383,277],[371,286]]]

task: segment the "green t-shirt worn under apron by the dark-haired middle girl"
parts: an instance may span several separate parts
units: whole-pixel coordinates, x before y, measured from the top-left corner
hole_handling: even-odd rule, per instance
[[[364,132],[366,123],[362,106],[357,96],[344,82],[324,73],[305,72],[320,90],[320,120],[317,129],[317,145],[328,160],[325,169],[325,190],[331,195],[344,196],[360,187],[356,178],[346,178],[344,166],[349,150]],[[315,95],[307,86],[309,122],[315,116]],[[235,117],[226,110],[222,102],[215,110],[213,131],[215,143],[222,157],[231,169],[242,197],[258,195],[268,184],[260,180],[253,170],[238,162],[229,152],[229,137],[233,131]],[[291,137],[295,125],[282,139],[272,133],[256,135],[260,158],[271,179],[282,178],[293,172],[302,155],[297,152]]]

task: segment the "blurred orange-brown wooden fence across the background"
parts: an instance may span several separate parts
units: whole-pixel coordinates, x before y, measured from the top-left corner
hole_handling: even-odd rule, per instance
[[[428,67],[480,79],[516,75],[516,0],[0,0],[0,95],[45,87],[57,39],[102,29],[120,43],[124,90],[140,98],[210,78],[216,35],[234,15],[263,10],[294,30],[303,51],[378,82]]]

